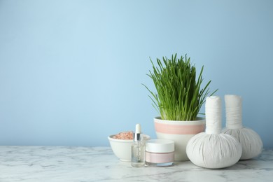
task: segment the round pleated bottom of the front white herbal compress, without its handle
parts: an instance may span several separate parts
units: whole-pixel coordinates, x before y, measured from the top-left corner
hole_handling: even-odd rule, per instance
[[[218,169],[235,165],[241,157],[241,146],[228,134],[202,132],[188,142],[187,155],[193,164]]]

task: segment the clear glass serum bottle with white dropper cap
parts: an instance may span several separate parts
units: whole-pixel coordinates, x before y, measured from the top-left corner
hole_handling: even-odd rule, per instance
[[[136,131],[134,132],[134,144],[132,144],[132,167],[144,167],[145,166],[145,142],[143,134],[141,133],[141,126],[136,125]]]

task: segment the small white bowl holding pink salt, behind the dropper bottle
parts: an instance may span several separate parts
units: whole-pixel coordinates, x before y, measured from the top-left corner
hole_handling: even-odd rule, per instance
[[[108,137],[113,153],[123,162],[131,162],[133,140],[113,139],[112,134]],[[144,141],[149,140],[150,136],[144,134]]]

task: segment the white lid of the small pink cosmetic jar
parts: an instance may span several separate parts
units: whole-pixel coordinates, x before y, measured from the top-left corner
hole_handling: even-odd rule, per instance
[[[151,153],[174,152],[174,141],[165,139],[153,139],[146,141],[145,150]]]

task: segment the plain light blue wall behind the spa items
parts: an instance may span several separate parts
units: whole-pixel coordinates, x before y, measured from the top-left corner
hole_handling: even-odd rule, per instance
[[[149,57],[188,53],[273,148],[273,1],[0,1],[0,145],[155,137]],[[202,109],[204,112],[204,108]],[[223,117],[224,118],[224,117]],[[223,120],[223,125],[225,120]]]

